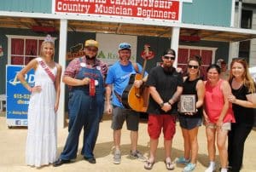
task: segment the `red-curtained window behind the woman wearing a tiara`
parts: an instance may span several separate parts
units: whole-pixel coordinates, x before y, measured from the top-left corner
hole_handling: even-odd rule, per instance
[[[40,54],[44,37],[8,35],[8,64],[26,65]]]

